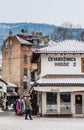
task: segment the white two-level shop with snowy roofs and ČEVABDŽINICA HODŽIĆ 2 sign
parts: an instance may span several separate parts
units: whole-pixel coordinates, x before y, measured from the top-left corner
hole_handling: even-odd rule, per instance
[[[84,43],[50,41],[37,49],[40,75],[34,86],[38,92],[39,112],[84,116]]]

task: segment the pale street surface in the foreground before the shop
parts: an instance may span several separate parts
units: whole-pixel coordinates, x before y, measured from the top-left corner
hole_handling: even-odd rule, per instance
[[[84,118],[33,116],[33,120],[25,120],[24,116],[3,113],[0,114],[0,130],[84,130]]]

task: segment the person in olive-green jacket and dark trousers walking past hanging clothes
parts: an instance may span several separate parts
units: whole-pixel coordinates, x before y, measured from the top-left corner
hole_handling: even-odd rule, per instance
[[[31,98],[30,95],[27,96],[26,100],[25,100],[25,120],[28,119],[28,115],[30,120],[32,120],[32,106],[31,106],[31,102],[30,102]]]

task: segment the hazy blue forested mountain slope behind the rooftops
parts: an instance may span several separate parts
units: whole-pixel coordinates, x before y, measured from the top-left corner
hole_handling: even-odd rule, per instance
[[[13,34],[21,34],[22,29],[27,29],[28,33],[31,34],[33,31],[42,32],[43,35],[49,35],[54,40],[65,40],[65,39],[78,39],[81,32],[84,29],[75,29],[58,27],[49,24],[40,23],[0,23],[0,49],[2,47],[3,41],[8,36],[11,30]]]

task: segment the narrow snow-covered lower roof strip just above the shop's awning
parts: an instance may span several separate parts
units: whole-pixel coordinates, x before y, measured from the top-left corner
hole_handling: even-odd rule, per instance
[[[84,78],[40,78],[38,84],[84,84]]]

